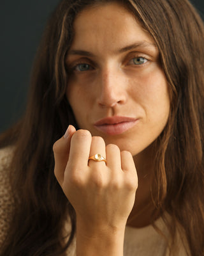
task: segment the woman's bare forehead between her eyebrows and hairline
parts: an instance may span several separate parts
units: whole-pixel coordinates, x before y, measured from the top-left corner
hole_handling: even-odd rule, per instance
[[[74,31],[71,48],[114,51],[136,41],[154,44],[136,17],[119,3],[100,4],[83,10],[75,19]]]

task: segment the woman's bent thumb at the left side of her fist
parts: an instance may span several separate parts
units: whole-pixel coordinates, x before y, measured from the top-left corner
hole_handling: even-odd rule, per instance
[[[55,159],[54,173],[59,184],[62,184],[64,180],[64,170],[69,159],[71,137],[73,136],[75,131],[75,127],[73,127],[73,125],[69,125],[64,136],[62,136],[62,138],[60,138],[59,140],[55,141],[53,145]]]

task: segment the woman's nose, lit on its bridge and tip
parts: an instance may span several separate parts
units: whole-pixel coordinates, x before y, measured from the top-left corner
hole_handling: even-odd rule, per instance
[[[110,108],[126,102],[126,79],[117,70],[102,70],[98,76],[98,104]]]

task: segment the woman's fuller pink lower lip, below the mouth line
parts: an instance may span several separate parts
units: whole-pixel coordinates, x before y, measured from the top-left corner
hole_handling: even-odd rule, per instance
[[[138,120],[131,122],[121,122],[119,124],[95,125],[95,127],[98,129],[98,131],[104,132],[108,135],[118,135],[131,129],[137,121]]]

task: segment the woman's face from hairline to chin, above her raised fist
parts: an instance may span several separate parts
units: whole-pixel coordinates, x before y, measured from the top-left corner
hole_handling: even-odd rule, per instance
[[[170,111],[156,44],[117,3],[82,11],[74,29],[67,97],[78,127],[135,156],[161,134]]]

